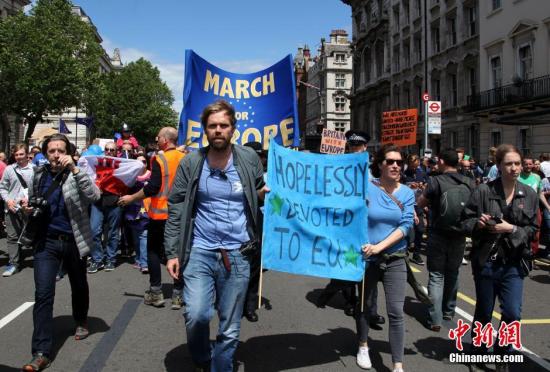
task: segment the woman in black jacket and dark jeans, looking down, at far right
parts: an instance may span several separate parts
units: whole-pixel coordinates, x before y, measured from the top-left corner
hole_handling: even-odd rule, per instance
[[[500,176],[474,190],[463,211],[463,227],[472,236],[472,272],[476,287],[475,322],[491,323],[498,296],[502,319],[507,326],[521,319],[523,278],[530,269],[530,241],[538,229],[538,195],[518,182],[521,153],[513,145],[500,145],[496,166]],[[472,336],[473,337],[473,336]],[[474,354],[487,352],[472,345]],[[512,352],[511,346],[495,342],[495,354]],[[508,371],[497,364],[497,371]]]

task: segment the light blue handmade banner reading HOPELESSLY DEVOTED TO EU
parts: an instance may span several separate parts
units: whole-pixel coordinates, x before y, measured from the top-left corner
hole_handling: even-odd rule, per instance
[[[368,153],[321,155],[269,148],[263,267],[360,281],[368,242]]]

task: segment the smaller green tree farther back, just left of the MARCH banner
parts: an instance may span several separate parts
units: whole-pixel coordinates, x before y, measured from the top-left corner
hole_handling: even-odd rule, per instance
[[[96,135],[110,138],[122,123],[132,127],[140,143],[154,142],[160,128],[175,126],[174,97],[151,62],[140,58],[104,80],[103,100],[94,111]]]

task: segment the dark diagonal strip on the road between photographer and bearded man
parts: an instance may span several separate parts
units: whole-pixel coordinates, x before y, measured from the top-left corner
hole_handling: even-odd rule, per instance
[[[80,368],[80,372],[96,372],[103,370],[109,356],[126,331],[130,320],[132,320],[142,302],[143,300],[128,300],[124,303],[117,317],[113,320],[111,328],[103,335],[94,350],[92,350],[88,359],[86,359],[82,368]]]

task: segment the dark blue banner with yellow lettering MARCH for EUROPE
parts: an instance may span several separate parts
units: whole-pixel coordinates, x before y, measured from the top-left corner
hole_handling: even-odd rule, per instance
[[[183,110],[178,129],[180,145],[190,148],[208,145],[200,116],[207,105],[219,99],[235,107],[234,142],[260,142],[266,149],[273,137],[283,146],[300,144],[291,55],[263,71],[234,74],[186,50]]]

